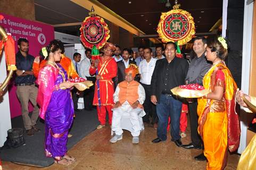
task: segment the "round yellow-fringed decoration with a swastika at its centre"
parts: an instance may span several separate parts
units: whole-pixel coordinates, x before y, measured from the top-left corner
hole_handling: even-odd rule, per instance
[[[162,13],[157,31],[163,43],[178,41],[178,45],[184,45],[193,38],[195,23],[189,12],[175,9]]]

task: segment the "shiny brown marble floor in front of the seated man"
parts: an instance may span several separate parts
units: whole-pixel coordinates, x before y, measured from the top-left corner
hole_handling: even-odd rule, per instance
[[[183,143],[190,142],[189,129]],[[16,165],[3,162],[4,170],[82,170],[82,169],[205,169],[206,162],[194,160],[194,156],[200,154],[200,150],[187,150],[177,147],[174,142],[168,140],[160,143],[152,143],[156,137],[156,130],[145,125],[145,130],[140,135],[138,145],[131,143],[131,134],[123,133],[123,139],[117,143],[110,143],[111,130],[105,126],[101,130],[95,130],[69,150],[69,154],[76,157],[76,163],[69,166],[53,164],[49,167],[38,168]],[[232,154],[228,156],[225,170],[236,169],[240,156]]]

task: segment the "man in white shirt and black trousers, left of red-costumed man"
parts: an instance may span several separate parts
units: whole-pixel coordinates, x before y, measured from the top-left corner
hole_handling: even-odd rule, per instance
[[[91,65],[92,50],[86,49],[85,59],[80,62],[80,76],[84,79],[93,81],[95,84],[95,75],[90,75],[89,69]],[[84,105],[86,111],[93,109],[94,85],[84,91]]]

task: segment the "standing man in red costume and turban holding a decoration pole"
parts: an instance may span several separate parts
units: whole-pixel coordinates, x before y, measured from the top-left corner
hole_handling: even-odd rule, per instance
[[[97,71],[93,99],[93,105],[97,106],[98,121],[101,123],[98,125],[97,129],[101,129],[105,126],[106,111],[108,111],[109,114],[109,124],[111,125],[112,123],[111,109],[114,105],[114,86],[112,78],[117,76],[117,63],[114,58],[111,57],[114,50],[115,46],[113,44],[106,43],[104,46],[104,55],[100,57],[99,60],[93,61],[89,69],[90,75],[96,74]],[[99,86],[97,84],[99,84]]]

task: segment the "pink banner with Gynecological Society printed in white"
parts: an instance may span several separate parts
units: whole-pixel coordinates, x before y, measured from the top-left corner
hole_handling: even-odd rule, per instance
[[[14,16],[0,13],[4,19],[0,21],[0,25],[11,33],[15,41],[15,51],[18,52],[16,41],[19,38],[26,38],[29,41],[29,54],[38,56],[39,50],[49,44],[54,39],[54,29],[51,25],[40,22],[24,20]],[[15,77],[15,76],[14,76]],[[9,86],[9,100],[11,117],[21,115],[21,105],[16,97],[16,87],[14,86],[14,79]],[[29,105],[29,111],[33,110],[32,105]]]

